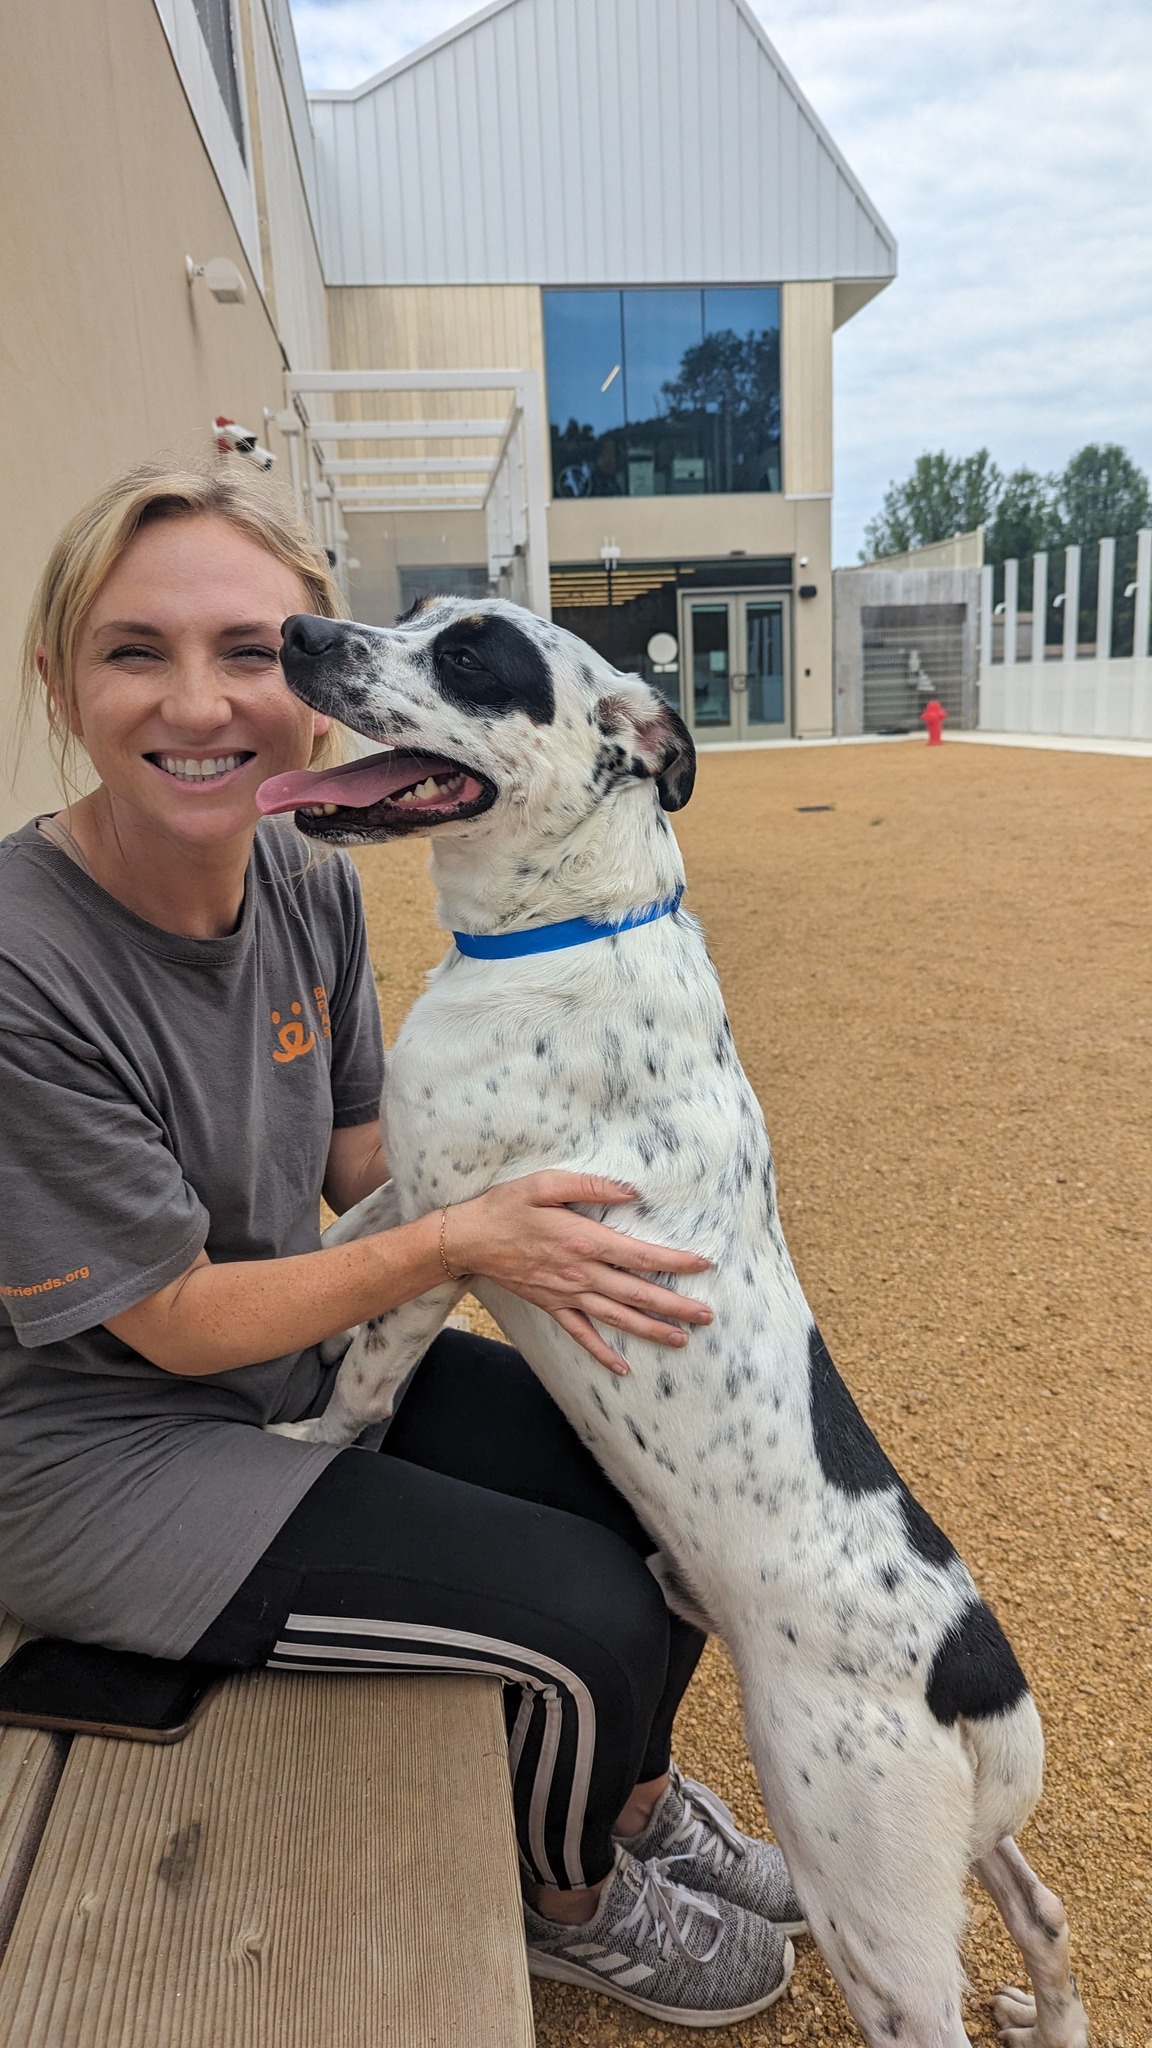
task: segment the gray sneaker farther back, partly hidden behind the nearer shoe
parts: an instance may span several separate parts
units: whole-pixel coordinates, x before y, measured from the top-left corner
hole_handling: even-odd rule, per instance
[[[781,1933],[806,1933],[804,1907],[777,1845],[742,1835],[724,1800],[707,1786],[681,1778],[674,1763],[648,1827],[625,1837],[623,1845],[629,1855],[658,1864],[693,1892],[728,1898],[744,1913],[773,1921]]]

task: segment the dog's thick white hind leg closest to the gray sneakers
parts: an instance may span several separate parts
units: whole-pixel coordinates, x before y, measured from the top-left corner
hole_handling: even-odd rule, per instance
[[[771,1651],[779,1663],[779,1653]],[[963,1878],[972,1765],[927,1708],[842,1677],[756,1675],[740,1659],[748,1745],[810,1931],[869,2048],[965,2048]]]

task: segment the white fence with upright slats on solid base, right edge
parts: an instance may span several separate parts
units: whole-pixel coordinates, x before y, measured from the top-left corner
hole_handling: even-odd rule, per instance
[[[1132,545],[1132,543],[1129,543]],[[994,569],[982,569],[980,729],[1064,733],[1080,739],[1152,739],[1152,530],[1138,535],[1132,647],[1113,647],[1115,541],[1101,541],[1095,633],[1082,639],[1080,549],[1064,551],[1064,590],[1050,594],[1047,555],[1031,563],[1031,606],[1019,606],[1021,565],[1004,563],[1004,596],[994,604]],[[1050,639],[1052,616],[1060,639]],[[1025,659],[1021,659],[1025,653]]]

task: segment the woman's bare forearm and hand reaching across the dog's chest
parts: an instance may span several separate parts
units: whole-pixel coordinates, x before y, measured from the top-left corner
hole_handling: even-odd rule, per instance
[[[711,1309],[640,1278],[705,1272],[695,1251],[670,1251],[609,1231],[570,1202],[629,1202],[635,1188],[594,1174],[531,1174],[449,1208],[445,1249],[453,1272],[484,1274],[547,1309],[562,1329],[613,1372],[627,1370],[592,1327],[685,1343],[678,1323],[707,1323]],[[627,1260],[627,1268],[621,1262]],[[351,1245],[283,1260],[213,1266],[205,1251],[168,1286],[113,1315],[107,1329],[164,1372],[234,1372],[262,1358],[320,1343],[416,1300],[445,1278],[441,1212]]]

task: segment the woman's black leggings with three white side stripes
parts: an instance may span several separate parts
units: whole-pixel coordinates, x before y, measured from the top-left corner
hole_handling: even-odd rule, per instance
[[[596,1884],[705,1640],[668,1614],[652,1550],[523,1358],[445,1331],[381,1452],[332,1460],[191,1655],[494,1671],[525,1864]]]

